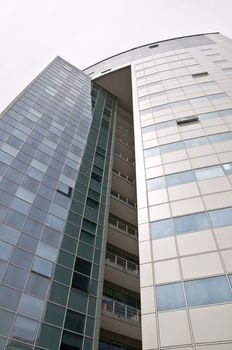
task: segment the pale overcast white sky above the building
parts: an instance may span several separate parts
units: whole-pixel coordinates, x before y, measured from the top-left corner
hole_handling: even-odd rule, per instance
[[[232,0],[0,0],[0,111],[57,55],[83,69],[150,42],[219,31]]]

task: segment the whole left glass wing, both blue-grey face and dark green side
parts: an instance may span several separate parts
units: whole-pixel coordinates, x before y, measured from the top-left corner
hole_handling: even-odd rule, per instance
[[[0,121],[6,349],[92,348],[115,106],[56,58]]]

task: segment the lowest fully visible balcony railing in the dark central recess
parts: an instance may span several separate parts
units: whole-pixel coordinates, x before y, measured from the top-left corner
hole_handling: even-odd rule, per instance
[[[140,324],[140,310],[120,301],[103,296],[102,313],[120,320]]]

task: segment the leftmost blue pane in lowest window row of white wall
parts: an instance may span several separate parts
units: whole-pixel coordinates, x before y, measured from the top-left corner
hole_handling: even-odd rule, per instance
[[[179,309],[186,306],[182,283],[166,284],[155,289],[158,311]]]

